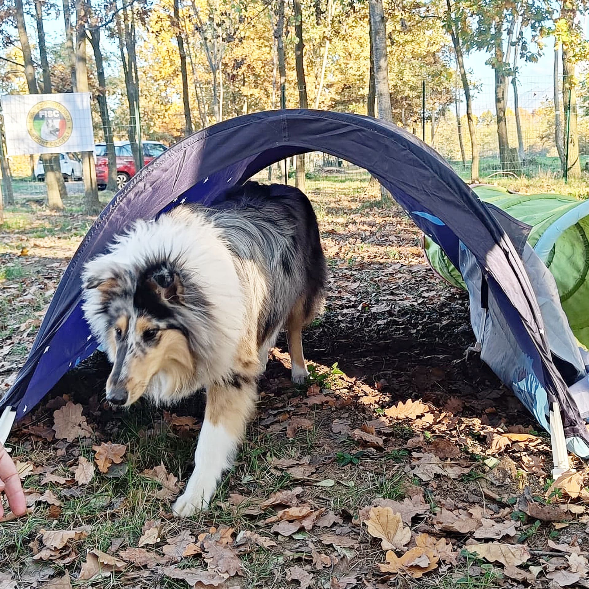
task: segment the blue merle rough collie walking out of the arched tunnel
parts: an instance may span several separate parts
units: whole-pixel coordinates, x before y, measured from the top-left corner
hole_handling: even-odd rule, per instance
[[[230,468],[280,330],[293,382],[308,376],[301,330],[323,304],[326,264],[308,198],[246,183],[210,207],[137,221],[82,275],[84,314],[113,366],[108,401],[171,403],[206,389],[194,472],[173,506],[204,509]]]

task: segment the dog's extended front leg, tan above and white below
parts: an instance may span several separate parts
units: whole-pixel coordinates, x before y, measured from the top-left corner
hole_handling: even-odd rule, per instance
[[[188,517],[209,507],[223,471],[231,468],[237,446],[256,405],[255,377],[234,374],[231,382],[207,390],[203,427],[194,452],[194,472],[172,509]]]

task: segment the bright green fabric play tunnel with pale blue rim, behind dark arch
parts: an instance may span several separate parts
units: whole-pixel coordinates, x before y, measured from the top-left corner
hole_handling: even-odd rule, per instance
[[[528,243],[554,276],[575,337],[589,348],[589,201],[561,194],[509,194],[496,186],[478,186],[474,191],[482,201],[532,227]],[[438,244],[429,237],[423,242],[435,272],[465,289],[460,272]]]

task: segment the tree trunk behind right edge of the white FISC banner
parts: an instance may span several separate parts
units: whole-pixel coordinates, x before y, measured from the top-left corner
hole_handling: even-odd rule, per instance
[[[76,40],[75,40],[75,78],[78,92],[88,92],[88,66],[86,59],[86,27],[90,19],[90,6],[87,0],[75,0]],[[82,178],[84,178],[84,209],[87,214],[101,211],[96,183],[94,153],[82,151]]]

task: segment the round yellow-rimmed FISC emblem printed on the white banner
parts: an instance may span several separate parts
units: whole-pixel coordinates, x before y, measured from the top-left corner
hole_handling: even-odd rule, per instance
[[[72,115],[59,102],[37,102],[27,115],[27,131],[43,147],[60,147],[72,134]]]

